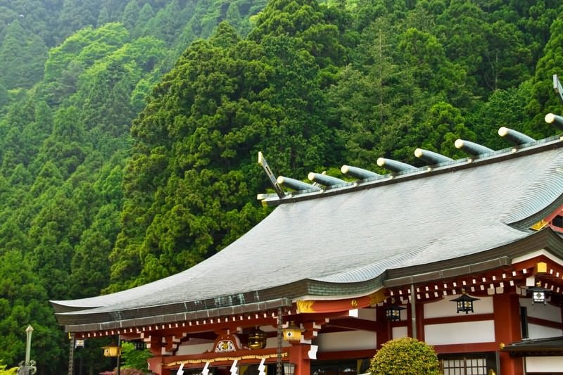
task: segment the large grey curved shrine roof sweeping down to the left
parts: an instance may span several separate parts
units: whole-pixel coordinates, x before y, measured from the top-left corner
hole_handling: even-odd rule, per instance
[[[304,295],[358,295],[381,288],[391,269],[416,272],[483,252],[495,258],[502,254],[494,249],[533,234],[514,222],[537,221],[538,212],[561,204],[559,144],[278,198],[288,203],[184,272],[120,293],[52,303],[61,324],[125,321]]]

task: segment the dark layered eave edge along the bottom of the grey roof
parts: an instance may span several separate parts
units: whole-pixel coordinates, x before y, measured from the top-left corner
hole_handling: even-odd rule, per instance
[[[229,298],[233,296],[224,296],[224,298],[148,306],[129,311],[99,312],[96,311],[96,308],[75,311],[64,311],[63,309],[58,310],[56,317],[59,324],[65,325],[68,331],[79,332],[265,311],[277,307],[291,307],[293,300],[303,298],[305,295],[315,295],[322,299],[343,298],[343,295],[367,295],[381,287],[393,288],[483,272],[511,265],[513,258],[538,248],[545,248],[555,255],[562,256],[563,239],[551,229],[546,228],[499,248],[429,265],[389,269],[379,277],[362,283],[328,283],[305,279],[255,293],[256,297],[262,297],[264,300],[250,302],[251,298],[247,296],[245,299],[247,303],[239,305],[221,305],[221,301],[231,303],[233,301],[233,298]]]

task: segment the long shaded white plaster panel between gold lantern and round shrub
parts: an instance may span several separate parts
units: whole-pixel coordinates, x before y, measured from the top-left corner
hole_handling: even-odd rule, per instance
[[[316,345],[320,352],[377,348],[377,334],[370,331],[320,333]]]

